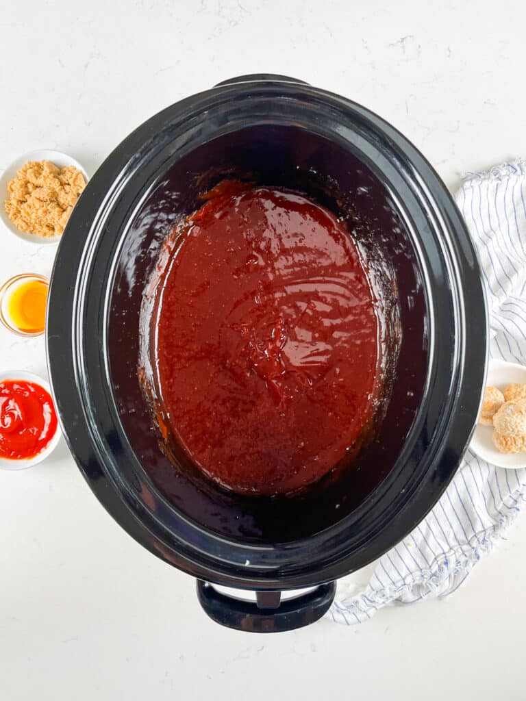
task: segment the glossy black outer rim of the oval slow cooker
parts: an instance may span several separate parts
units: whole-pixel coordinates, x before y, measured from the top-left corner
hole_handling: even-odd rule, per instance
[[[344,109],[353,118],[360,118],[375,129],[381,130],[382,136],[389,139],[393,147],[396,145],[398,153],[403,154],[406,163],[411,165],[414,170],[414,176],[421,181],[419,186],[424,189],[427,187],[429,198],[436,207],[437,212],[441,217],[445,217],[448,222],[446,228],[451,231],[464,233],[464,236],[460,238],[464,239],[462,243],[464,247],[467,247],[467,255],[466,250],[464,250],[464,255],[458,256],[461,260],[466,258],[466,261],[460,266],[461,270],[457,271],[457,275],[461,280],[461,285],[469,291],[471,304],[468,305],[469,309],[459,309],[457,312],[462,313],[464,311],[466,313],[468,311],[471,321],[476,324],[475,329],[477,329],[477,333],[473,334],[473,339],[476,336],[478,348],[473,347],[473,343],[470,343],[469,338],[463,339],[466,347],[461,349],[464,352],[464,360],[461,362],[457,388],[455,388],[455,393],[458,389],[458,395],[452,398],[452,402],[455,406],[462,408],[464,420],[461,421],[460,417],[457,426],[450,426],[447,445],[443,446],[443,450],[437,454],[436,458],[440,458],[444,451],[451,449],[451,446],[454,446],[457,452],[463,451],[470,437],[469,429],[472,428],[473,418],[478,410],[486,354],[483,287],[478,274],[476,253],[471,243],[469,243],[464,222],[461,221],[459,212],[454,206],[449,193],[447,193],[445,186],[440,182],[429,163],[404,137],[365,108],[349,100],[344,100],[342,97],[326,93],[317,88],[311,88],[310,86],[265,82],[242,83],[235,86],[215,88],[167,108],[135,130],[128,139],[115,149],[113,154],[109,156],[107,161],[97,171],[94,179],[88,184],[86,193],[74,210],[74,215],[60,244],[57,264],[53,271],[48,307],[48,363],[62,428],[72,452],[79,463],[83,475],[88,480],[93,491],[95,491],[97,498],[126,531],[159,557],[163,557],[168,562],[172,562],[196,576],[224,584],[252,585],[258,588],[272,588],[276,586],[286,588],[319,583],[342,576],[346,571],[356,569],[357,563],[359,563],[359,566],[363,566],[366,562],[378,557],[379,554],[393,545],[394,538],[400,540],[416,525],[419,519],[424,517],[425,513],[429,511],[443,489],[445,489],[445,486],[447,486],[454,474],[454,470],[456,470],[457,464],[452,465],[450,461],[447,464],[447,469],[443,468],[441,470],[439,465],[435,465],[434,470],[429,470],[427,479],[422,480],[422,483],[418,485],[411,495],[411,508],[407,506],[409,501],[407,498],[405,507],[401,508],[396,516],[393,517],[390,536],[386,537],[384,533],[383,536],[380,534],[376,539],[372,538],[369,543],[364,543],[363,547],[355,550],[349,557],[335,559],[333,562],[325,562],[323,566],[315,568],[313,571],[306,571],[309,569],[309,566],[312,567],[312,555],[316,557],[316,553],[318,553],[317,547],[320,545],[319,543],[316,545],[316,538],[309,538],[308,545],[311,557],[305,559],[304,564],[299,568],[301,571],[294,572],[290,563],[288,567],[282,566],[281,569],[276,567],[275,564],[274,568],[269,567],[267,573],[265,573],[264,569],[262,571],[240,571],[239,562],[229,562],[229,556],[225,557],[223,561],[221,557],[217,557],[218,554],[220,555],[220,545],[224,538],[217,538],[217,536],[209,534],[210,538],[215,540],[216,550],[219,549],[216,552],[216,557],[210,557],[206,552],[185,552],[184,547],[180,543],[178,544],[179,547],[174,547],[173,542],[167,541],[164,537],[166,533],[162,533],[162,524],[159,523],[159,519],[156,519],[154,515],[144,513],[136,500],[134,501],[133,495],[127,494],[126,497],[123,496],[123,484],[119,484],[118,480],[115,481],[114,477],[110,475],[104,466],[102,455],[104,455],[106,447],[104,447],[104,444],[100,444],[97,449],[94,445],[93,433],[90,433],[83,421],[79,421],[86,411],[86,402],[89,404],[90,400],[93,399],[92,393],[94,391],[98,397],[93,402],[95,406],[99,406],[100,401],[107,400],[107,395],[104,391],[101,393],[100,388],[95,388],[93,383],[90,382],[93,378],[88,378],[88,382],[86,382],[86,378],[81,377],[82,373],[79,369],[82,367],[83,362],[81,358],[82,344],[76,343],[76,339],[82,336],[83,330],[78,325],[81,319],[76,317],[76,313],[79,311],[79,304],[82,303],[82,286],[86,281],[82,279],[76,281],[74,279],[76,265],[73,261],[79,262],[81,259],[86,261],[88,250],[83,251],[83,241],[85,240],[81,235],[83,231],[86,232],[88,243],[90,243],[90,236],[91,243],[95,243],[95,238],[92,236],[95,229],[93,204],[98,204],[100,207],[100,203],[105,202],[107,204],[109,198],[116,196],[116,184],[122,184],[130,177],[130,170],[137,167],[139,163],[137,154],[140,153],[141,149],[144,149],[145,143],[159,134],[162,128],[168,130],[166,136],[173,138],[176,134],[174,123],[181,121],[184,115],[188,113],[199,114],[200,111],[210,109],[214,103],[220,100],[232,101],[234,98],[240,99],[240,97],[246,97],[249,94],[251,97],[255,95],[270,95],[273,97],[285,95],[288,100],[294,100],[298,97],[301,97],[303,100],[316,100],[319,107],[323,107],[323,104],[327,103],[332,107],[337,107],[337,109]],[[210,102],[212,104],[207,108],[206,105]],[[113,188],[110,188],[110,191],[107,191],[107,186],[104,184],[108,182],[108,179],[114,185]],[[97,191],[95,185],[97,186]],[[100,208],[98,212],[100,213]],[[69,232],[73,230],[74,233],[70,234]],[[459,245],[459,241],[456,243]],[[452,245],[455,245],[454,240]],[[68,266],[60,266],[60,260],[68,261]],[[470,261],[469,264],[467,260]],[[466,299],[467,295],[464,294],[464,301]],[[76,322],[75,325],[66,327],[66,329],[64,329],[63,325],[64,312],[66,312],[66,318],[71,317]],[[465,326],[464,323],[464,329]],[[466,367],[466,353],[467,357],[470,358],[468,367]],[[479,370],[478,367],[481,369]],[[466,374],[471,378],[468,378],[467,382],[465,381]],[[463,378],[464,390],[461,383]],[[466,396],[466,386],[472,393],[471,397]],[[72,388],[74,388],[74,392],[72,392]],[[453,411],[452,413],[454,414],[455,412]],[[466,428],[466,421],[469,428]],[[97,451],[99,453],[98,457]],[[421,508],[417,508],[419,504],[422,504]],[[338,525],[340,530],[344,528],[344,525]],[[230,543],[228,547],[231,546],[232,544]],[[243,544],[241,550],[248,554],[257,554],[261,548],[258,549],[257,547]],[[288,555],[290,556],[292,549],[288,547],[285,550],[288,550]],[[367,551],[366,554],[365,550]],[[285,556],[281,557],[282,564],[286,559]],[[240,560],[240,562],[242,561]]]

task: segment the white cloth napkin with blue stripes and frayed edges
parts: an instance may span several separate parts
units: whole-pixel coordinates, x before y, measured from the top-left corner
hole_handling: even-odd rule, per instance
[[[490,355],[526,363],[526,160],[468,173],[455,195],[478,249],[490,311]],[[526,469],[466,452],[450,486],[412,533],[377,562],[363,592],[341,580],[328,616],[351,625],[386,604],[451,594],[518,515]]]

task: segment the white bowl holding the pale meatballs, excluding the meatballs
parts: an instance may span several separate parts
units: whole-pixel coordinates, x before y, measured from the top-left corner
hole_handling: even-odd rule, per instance
[[[526,367],[515,362],[505,360],[490,360],[487,369],[486,387],[493,386],[504,390],[507,385],[518,383],[526,385]],[[483,460],[498,465],[499,468],[526,468],[526,453],[514,453],[505,455],[500,453],[493,444],[493,426],[477,424],[470,448]]]

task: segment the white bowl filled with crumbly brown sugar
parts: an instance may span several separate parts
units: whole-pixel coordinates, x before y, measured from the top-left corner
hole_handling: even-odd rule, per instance
[[[30,151],[0,177],[2,222],[25,241],[58,243],[87,181],[74,158],[49,149]]]

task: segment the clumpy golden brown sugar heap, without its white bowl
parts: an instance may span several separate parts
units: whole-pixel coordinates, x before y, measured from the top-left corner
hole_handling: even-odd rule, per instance
[[[21,231],[36,236],[60,236],[76,200],[86,186],[81,171],[50,161],[25,163],[8,184],[4,209]]]

